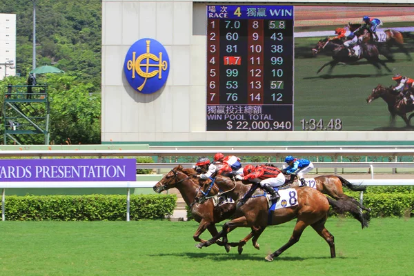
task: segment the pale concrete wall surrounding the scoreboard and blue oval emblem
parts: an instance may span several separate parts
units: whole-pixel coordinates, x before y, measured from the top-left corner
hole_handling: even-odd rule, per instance
[[[206,132],[205,7],[206,3],[185,0],[103,0],[102,141],[414,140],[414,132]],[[133,90],[123,70],[126,52],[144,37],[162,43],[170,58],[166,86],[151,95]]]

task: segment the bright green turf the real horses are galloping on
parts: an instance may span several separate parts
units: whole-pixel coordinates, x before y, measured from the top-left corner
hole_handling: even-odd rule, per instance
[[[195,248],[194,221],[1,221],[0,275],[413,275],[413,219],[330,218],[337,258],[307,228],[299,243],[268,263],[294,222],[272,226],[242,255],[213,245]],[[236,229],[229,237],[244,237]],[[204,234],[203,237],[208,237]]]

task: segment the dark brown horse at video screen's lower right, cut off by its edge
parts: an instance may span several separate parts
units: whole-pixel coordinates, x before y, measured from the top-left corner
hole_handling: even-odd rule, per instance
[[[411,126],[410,121],[414,116],[414,113],[412,113],[408,118],[407,113],[414,110],[414,105],[402,104],[401,97],[399,97],[398,94],[399,93],[395,92],[393,88],[388,88],[379,84],[376,88],[373,89],[371,95],[366,98],[366,102],[371,103],[371,101],[375,99],[382,98],[386,102],[388,111],[391,114],[391,126],[395,126],[395,115],[402,117],[406,123],[406,126]]]

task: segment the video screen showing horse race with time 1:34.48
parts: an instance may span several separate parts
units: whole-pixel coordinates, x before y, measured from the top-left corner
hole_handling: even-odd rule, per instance
[[[294,8],[295,130],[414,130],[414,8]]]

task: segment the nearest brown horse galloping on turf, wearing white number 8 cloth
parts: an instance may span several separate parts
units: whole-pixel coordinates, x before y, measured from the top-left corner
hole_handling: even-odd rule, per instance
[[[236,201],[241,201],[244,195],[248,194],[252,188],[252,184],[244,185],[242,181],[234,181],[224,176],[217,176],[215,185],[219,189],[224,190],[224,193],[228,193],[230,197]],[[217,189],[211,189],[212,193],[218,193]],[[289,191],[290,199],[293,203],[297,202],[297,205],[290,206],[287,208],[279,208],[268,212],[268,201],[263,195],[262,190],[255,190],[252,197],[250,197],[245,204],[237,207],[237,218],[226,222],[223,226],[223,230],[208,242],[200,243],[197,247],[202,248],[203,246],[210,246],[214,244],[217,239],[223,237],[223,242],[226,243],[227,233],[239,226],[251,227],[252,233],[242,239],[239,242],[239,253],[242,253],[243,246],[253,237],[252,242],[255,248],[259,248],[257,239],[263,233],[264,229],[268,225],[284,224],[292,219],[297,219],[293,235],[289,241],[276,250],[274,253],[268,255],[265,259],[268,262],[272,262],[273,259],[282,254],[286,249],[293,246],[293,244],[299,242],[299,238],[302,235],[304,229],[307,226],[311,226],[325,241],[328,243],[331,250],[331,257],[335,257],[335,243],[334,237],[325,228],[325,222],[328,218],[329,206],[338,213],[344,213],[349,211],[351,213],[360,212],[359,208],[355,204],[351,204],[349,201],[335,201],[319,193],[314,188],[300,187],[293,188]],[[290,201],[289,199],[289,201]],[[292,204],[293,205],[293,204]],[[367,222],[366,226],[368,226]]]

